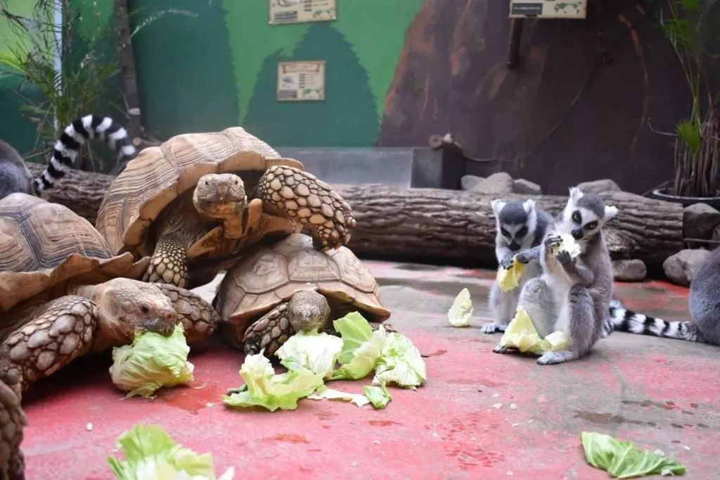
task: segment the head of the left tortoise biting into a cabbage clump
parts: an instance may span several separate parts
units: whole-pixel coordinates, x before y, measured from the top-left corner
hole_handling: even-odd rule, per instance
[[[94,341],[97,350],[132,342],[135,329],[168,337],[177,323],[170,299],[152,283],[115,278],[99,285],[78,287],[76,293],[97,306]]]

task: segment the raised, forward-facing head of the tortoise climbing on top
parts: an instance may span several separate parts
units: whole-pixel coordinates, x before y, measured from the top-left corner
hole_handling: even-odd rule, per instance
[[[206,174],[192,195],[198,213],[210,218],[237,215],[248,205],[243,179],[235,174]]]

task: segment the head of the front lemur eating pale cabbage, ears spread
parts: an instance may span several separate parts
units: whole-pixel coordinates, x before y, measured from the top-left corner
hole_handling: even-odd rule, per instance
[[[594,194],[583,194],[577,188],[570,189],[570,199],[563,212],[564,231],[577,241],[588,241],[596,236],[603,225],[618,213],[618,209],[606,206]]]

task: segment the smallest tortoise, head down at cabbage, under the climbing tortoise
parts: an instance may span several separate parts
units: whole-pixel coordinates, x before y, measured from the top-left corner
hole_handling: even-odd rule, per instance
[[[377,281],[353,252],[344,246],[318,252],[303,234],[240,260],[220,283],[214,303],[230,345],[244,345],[248,354],[272,355],[299,330],[332,332],[328,320],[351,311],[373,323],[390,317]]]

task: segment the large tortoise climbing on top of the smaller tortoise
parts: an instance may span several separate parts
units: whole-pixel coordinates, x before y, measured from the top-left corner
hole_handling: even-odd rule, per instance
[[[114,179],[96,221],[113,252],[151,257],[143,280],[187,288],[262,239],[305,228],[325,251],[347,244],[355,225],[332,187],[240,127],[145,148]]]

